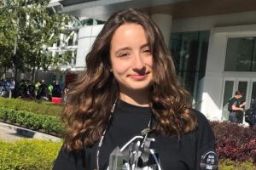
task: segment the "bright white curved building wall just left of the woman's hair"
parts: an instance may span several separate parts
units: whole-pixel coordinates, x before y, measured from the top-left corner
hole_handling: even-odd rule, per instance
[[[91,45],[103,26],[104,25],[84,26],[79,29],[79,44],[75,67],[84,68],[85,56],[89,53]]]

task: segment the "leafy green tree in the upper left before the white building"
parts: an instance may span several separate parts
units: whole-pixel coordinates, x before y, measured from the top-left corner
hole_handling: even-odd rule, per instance
[[[4,38],[0,37],[0,48],[8,46],[6,54],[11,54],[10,51],[14,49],[15,38],[17,38],[16,54],[20,62],[16,68],[20,71],[32,71],[33,79],[34,72],[38,69],[48,70],[49,65],[55,64],[56,60],[63,60],[49,54],[47,47],[59,40],[64,26],[70,22],[71,17],[67,14],[49,13],[47,9],[49,0],[10,2],[12,3],[5,3],[3,6],[3,13],[6,15],[6,11],[11,13],[8,20],[12,29],[6,30],[11,38],[5,35],[4,38],[8,39],[9,43],[4,44]],[[2,20],[4,22],[7,19]],[[3,43],[1,43],[1,38]],[[5,66],[10,66],[6,65],[4,59],[3,62],[0,59],[0,62]]]

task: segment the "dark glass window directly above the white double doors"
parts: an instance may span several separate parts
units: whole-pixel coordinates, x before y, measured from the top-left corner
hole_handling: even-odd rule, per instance
[[[228,38],[224,71],[252,71],[254,40],[254,37]],[[253,69],[256,70],[255,64]]]

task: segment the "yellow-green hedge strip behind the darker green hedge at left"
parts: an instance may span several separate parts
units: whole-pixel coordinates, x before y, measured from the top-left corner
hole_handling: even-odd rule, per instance
[[[0,98],[0,107],[16,111],[30,111],[41,115],[60,116],[63,105],[35,100]]]

